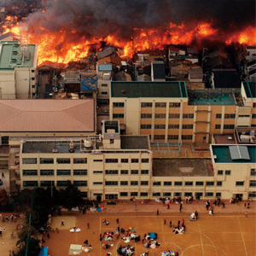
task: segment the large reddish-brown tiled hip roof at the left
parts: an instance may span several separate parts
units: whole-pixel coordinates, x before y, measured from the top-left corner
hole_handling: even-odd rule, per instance
[[[0,132],[93,132],[93,100],[2,100]]]

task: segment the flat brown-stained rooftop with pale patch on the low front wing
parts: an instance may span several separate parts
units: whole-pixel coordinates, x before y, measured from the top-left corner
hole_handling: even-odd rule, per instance
[[[213,177],[210,159],[153,159],[153,176]]]

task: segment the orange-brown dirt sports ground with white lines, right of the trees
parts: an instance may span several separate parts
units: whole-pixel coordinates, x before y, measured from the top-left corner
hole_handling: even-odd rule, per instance
[[[109,221],[108,226],[102,224],[104,218]],[[117,241],[111,241],[113,246],[103,249],[102,243],[105,241],[99,240],[100,233],[114,232],[118,227],[116,218],[119,218],[120,228],[126,230],[132,227],[141,237],[148,232],[158,234],[157,241],[160,242],[160,247],[149,248],[149,256],[160,256],[166,249],[177,251],[182,256],[256,255],[255,214],[250,213],[246,218],[242,212],[218,213],[214,216],[200,213],[197,221],[189,221],[188,212],[160,212],[158,216],[152,212],[94,212],[53,217],[52,226],[57,227],[59,233],[49,232],[49,239],[47,234],[44,234],[43,246],[49,247],[50,256],[67,256],[71,244],[83,245],[87,239],[93,251],[80,255],[105,256],[106,253],[112,253],[112,256],[116,256],[119,244],[127,245],[124,241],[120,238]],[[165,219],[166,224],[164,224]],[[170,220],[172,224],[177,224],[178,220],[182,222],[183,219],[186,233],[174,235],[172,228],[168,225]],[[64,221],[65,226],[61,227],[61,220]],[[90,223],[89,230],[88,223]],[[73,225],[80,228],[81,232],[71,233],[69,228]],[[129,244],[136,247],[133,255],[140,255],[147,251],[142,241],[137,243],[131,241]]]

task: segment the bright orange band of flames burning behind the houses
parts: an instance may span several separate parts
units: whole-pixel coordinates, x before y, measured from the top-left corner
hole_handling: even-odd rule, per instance
[[[14,32],[19,35],[19,26],[17,26],[17,17],[7,16],[7,24],[2,26],[4,32]],[[9,26],[11,24],[11,26]],[[58,61],[68,63],[69,61],[79,61],[88,55],[91,45],[96,45],[99,49],[99,42],[105,41],[108,45],[113,45],[124,49],[124,56],[131,57],[132,53],[144,49],[164,49],[167,44],[191,44],[197,42],[200,44],[204,38],[222,39],[226,44],[238,42],[239,44],[256,44],[255,28],[248,26],[241,32],[234,32],[229,38],[218,32],[218,29],[212,28],[209,23],[185,25],[176,25],[174,23],[164,31],[157,29],[134,28],[131,38],[118,38],[116,35],[108,35],[107,38],[78,38],[78,32],[73,28],[67,33],[64,30],[59,32],[50,32],[38,27],[40,36],[29,32],[29,44],[38,44],[38,64],[43,61]],[[226,38],[224,38],[226,37]]]

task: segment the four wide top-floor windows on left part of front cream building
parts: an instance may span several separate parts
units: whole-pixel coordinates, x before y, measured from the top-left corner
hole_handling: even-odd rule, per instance
[[[38,159],[37,158],[23,158],[22,159],[22,164],[23,165],[28,165],[28,164],[37,164]],[[70,164],[71,160],[70,158],[57,158],[56,159],[57,164]],[[54,164],[54,159],[53,158],[40,158],[40,164]],[[87,158],[74,158],[73,159],[73,164],[87,164]]]

